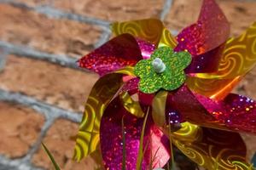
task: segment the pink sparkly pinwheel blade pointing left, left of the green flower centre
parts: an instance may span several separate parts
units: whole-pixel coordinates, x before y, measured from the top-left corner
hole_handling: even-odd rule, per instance
[[[126,65],[135,65],[140,59],[143,56],[137,40],[130,34],[122,34],[79,59],[79,66],[103,76]]]

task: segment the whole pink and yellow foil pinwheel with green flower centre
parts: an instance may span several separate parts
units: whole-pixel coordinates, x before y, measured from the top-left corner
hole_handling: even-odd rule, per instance
[[[249,169],[240,132],[256,133],[256,103],[230,92],[256,64],[256,23],[230,38],[217,3],[204,0],[199,19],[177,37],[156,19],[112,30],[116,37],[79,59],[100,78],[74,159],[97,152],[106,169],[164,167],[171,140],[207,169]]]

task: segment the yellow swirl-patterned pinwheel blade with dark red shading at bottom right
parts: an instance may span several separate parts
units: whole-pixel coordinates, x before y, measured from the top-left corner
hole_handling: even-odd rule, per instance
[[[202,167],[209,170],[245,170],[246,146],[239,133],[197,127],[189,122],[171,135],[172,144]]]

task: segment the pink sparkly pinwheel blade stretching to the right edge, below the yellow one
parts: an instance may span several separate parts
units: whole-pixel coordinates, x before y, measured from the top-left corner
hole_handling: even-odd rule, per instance
[[[256,102],[241,95],[212,100],[183,86],[168,94],[166,107],[175,113],[170,115],[172,122],[188,121],[203,127],[256,133]]]

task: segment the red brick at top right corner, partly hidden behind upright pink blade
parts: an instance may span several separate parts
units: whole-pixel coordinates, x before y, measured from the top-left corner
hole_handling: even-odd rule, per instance
[[[202,0],[173,1],[172,10],[166,16],[166,26],[181,31],[193,24],[199,15]],[[217,0],[220,8],[230,21],[231,35],[238,36],[255,21],[256,3],[230,0]]]

